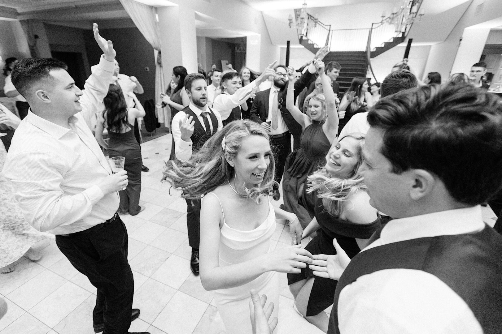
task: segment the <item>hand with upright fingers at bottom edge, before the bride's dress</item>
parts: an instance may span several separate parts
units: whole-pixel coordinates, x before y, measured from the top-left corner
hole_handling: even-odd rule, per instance
[[[264,311],[265,303],[267,303],[267,295],[260,295],[256,290],[251,290],[251,300],[249,300],[249,317],[253,327],[253,334],[272,334],[277,326],[277,317],[274,317],[269,324],[270,316],[274,311],[274,303],[270,302],[267,310]]]

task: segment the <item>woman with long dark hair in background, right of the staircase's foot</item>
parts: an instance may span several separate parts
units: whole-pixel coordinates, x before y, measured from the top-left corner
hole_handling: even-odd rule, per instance
[[[343,127],[359,112],[365,112],[373,105],[371,94],[368,92],[368,81],[363,77],[355,77],[350,83],[338,107],[340,123],[338,125],[338,135]]]

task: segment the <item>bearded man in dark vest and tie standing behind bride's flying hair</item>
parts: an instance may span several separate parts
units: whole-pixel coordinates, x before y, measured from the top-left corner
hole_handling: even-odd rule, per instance
[[[171,130],[176,158],[188,160],[193,152],[216,131],[222,129],[221,116],[207,106],[207,83],[200,73],[186,76],[184,86],[190,104],[173,117]],[[192,247],[190,269],[194,275],[199,274],[199,241],[200,241],[200,200],[186,200],[188,243]]]

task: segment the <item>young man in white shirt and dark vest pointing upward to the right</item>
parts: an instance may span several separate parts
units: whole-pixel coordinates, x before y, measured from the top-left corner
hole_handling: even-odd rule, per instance
[[[246,100],[249,97],[254,97],[255,88],[267,80],[269,76],[275,75],[275,71],[272,69],[275,63],[276,61],[270,64],[256,80],[244,87],[242,87],[242,78],[237,72],[228,72],[223,75],[221,79],[223,93],[216,96],[213,103],[213,109],[221,115],[223,125],[242,118],[240,108],[247,108]]]

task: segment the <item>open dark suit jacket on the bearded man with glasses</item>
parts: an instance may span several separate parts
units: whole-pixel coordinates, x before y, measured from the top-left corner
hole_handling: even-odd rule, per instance
[[[312,78],[313,74],[309,71],[306,71],[300,79],[295,82],[295,90],[294,96],[295,100],[300,94],[300,92],[307,87]],[[286,83],[286,86],[279,90],[278,99],[281,101],[281,115],[284,119],[284,122],[288,126],[289,131],[293,136],[300,136],[302,134],[302,126],[298,124],[293,115],[286,109],[286,88],[288,88],[289,82]],[[255,97],[255,101],[253,102],[253,106],[251,107],[251,111],[249,112],[249,118],[257,123],[265,122],[267,119],[267,115],[269,114],[269,98],[270,98],[270,88],[261,92],[258,92]]]

